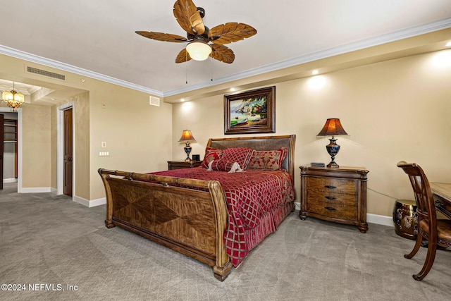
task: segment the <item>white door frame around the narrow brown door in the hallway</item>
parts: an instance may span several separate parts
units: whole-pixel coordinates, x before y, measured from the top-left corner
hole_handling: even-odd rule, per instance
[[[72,200],[75,199],[75,105],[68,102],[58,106],[56,110],[56,194],[63,195],[64,186],[64,111],[72,108],[72,145],[73,145],[73,168],[72,168]]]

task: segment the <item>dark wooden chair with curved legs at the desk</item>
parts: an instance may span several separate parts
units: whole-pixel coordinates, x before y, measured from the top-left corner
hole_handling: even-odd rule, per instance
[[[434,200],[432,197],[431,186],[423,169],[414,163],[400,161],[397,167],[409,176],[410,183],[414,189],[416,200],[416,214],[418,214],[418,235],[414,250],[404,257],[411,259],[418,252],[421,241],[428,240],[428,253],[423,269],[419,274],[413,275],[415,280],[422,280],[431,271],[435,259],[437,245],[440,247],[451,247],[451,220],[437,219]]]

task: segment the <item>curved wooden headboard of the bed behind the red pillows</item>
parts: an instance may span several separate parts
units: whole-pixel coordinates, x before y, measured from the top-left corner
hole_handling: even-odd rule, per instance
[[[282,168],[285,168],[294,179],[295,140],[296,135],[210,138],[206,146],[214,147],[216,149],[227,149],[228,147],[250,147],[257,150],[276,150],[280,149],[280,147],[286,147],[288,149],[288,154],[282,163]]]

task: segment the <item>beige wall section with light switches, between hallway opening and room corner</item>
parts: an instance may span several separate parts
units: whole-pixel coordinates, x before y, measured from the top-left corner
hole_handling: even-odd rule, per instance
[[[109,85],[89,93],[91,199],[104,197],[98,168],[146,173],[167,169],[172,154],[172,105],[149,105],[149,95]],[[104,104],[104,109],[102,109]],[[101,148],[106,142],[106,148]],[[110,156],[99,156],[99,152]]]

